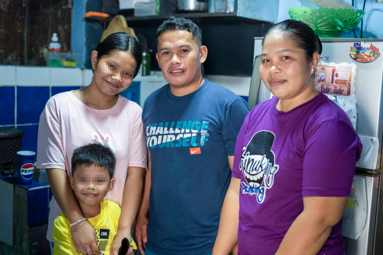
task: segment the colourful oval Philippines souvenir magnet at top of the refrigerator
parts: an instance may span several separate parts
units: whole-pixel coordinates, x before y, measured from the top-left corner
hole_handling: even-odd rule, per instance
[[[379,49],[369,42],[355,42],[350,46],[350,57],[359,63],[370,63],[379,57]]]

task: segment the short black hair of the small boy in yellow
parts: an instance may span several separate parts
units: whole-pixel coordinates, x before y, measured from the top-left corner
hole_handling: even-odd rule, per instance
[[[116,158],[113,152],[101,144],[88,144],[78,147],[73,151],[71,167],[72,176],[75,174],[76,168],[85,165],[105,167],[108,172],[110,179],[112,179],[114,167],[116,164]]]

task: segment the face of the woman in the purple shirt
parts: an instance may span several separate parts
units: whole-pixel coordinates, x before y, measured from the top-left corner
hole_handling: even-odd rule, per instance
[[[292,99],[305,91],[315,90],[310,71],[316,64],[308,63],[303,49],[288,34],[279,31],[266,36],[262,47],[260,77],[279,99]]]

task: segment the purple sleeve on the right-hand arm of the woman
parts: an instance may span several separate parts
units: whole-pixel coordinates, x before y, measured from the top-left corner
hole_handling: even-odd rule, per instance
[[[341,120],[316,125],[305,135],[302,196],[349,196],[362,144]]]

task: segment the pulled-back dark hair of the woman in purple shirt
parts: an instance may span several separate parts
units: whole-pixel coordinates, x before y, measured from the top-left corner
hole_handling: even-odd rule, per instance
[[[304,50],[308,61],[313,59],[313,53],[322,53],[321,40],[319,40],[319,37],[314,33],[313,29],[302,21],[286,19],[276,23],[266,33],[264,39],[262,39],[262,45],[264,44],[266,36],[272,32],[288,34],[288,36],[295,41],[296,46]]]

